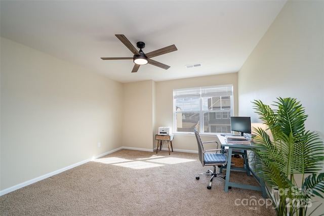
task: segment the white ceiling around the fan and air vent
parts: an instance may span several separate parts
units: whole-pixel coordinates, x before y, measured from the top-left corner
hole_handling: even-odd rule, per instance
[[[1,1],[1,36],[120,82],[237,72],[285,1]],[[115,37],[144,53],[176,45],[131,73],[132,57]],[[19,60],[18,60],[19,62]],[[201,67],[185,65],[201,63]]]

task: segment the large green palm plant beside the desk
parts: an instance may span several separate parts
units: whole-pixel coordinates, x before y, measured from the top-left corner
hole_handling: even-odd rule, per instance
[[[263,178],[277,215],[303,216],[313,196],[324,198],[324,173],[319,173],[324,161],[323,142],[317,133],[306,131],[308,115],[300,102],[277,100],[272,104],[274,110],[260,100],[252,102],[268,127],[266,131],[254,128],[255,143],[262,147],[255,151],[259,158],[256,173]]]

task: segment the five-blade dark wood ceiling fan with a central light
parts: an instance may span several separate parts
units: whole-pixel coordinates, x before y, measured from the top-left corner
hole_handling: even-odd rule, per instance
[[[177,51],[175,45],[169,47],[161,48],[159,50],[152,51],[150,53],[144,54],[142,49],[145,47],[145,43],[142,41],[137,42],[136,46],[140,49],[139,51],[131,44],[131,42],[126,38],[124,34],[115,34],[115,36],[134,54],[133,57],[115,57],[115,58],[101,58],[102,60],[122,60],[122,59],[133,59],[135,65],[133,67],[132,73],[137,72],[141,65],[151,64],[163,69],[169,69],[170,66],[162,64],[160,62],[154,61],[150,58],[155,56],[160,56],[166,53],[171,53]]]

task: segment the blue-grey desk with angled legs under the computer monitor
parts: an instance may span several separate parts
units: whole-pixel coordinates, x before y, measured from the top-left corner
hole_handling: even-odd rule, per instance
[[[252,186],[252,185],[244,185],[244,184],[238,184],[229,182],[229,176],[230,176],[230,170],[231,169],[237,169],[237,167],[231,167],[231,155],[233,150],[252,150],[255,148],[259,148],[254,145],[252,142],[251,145],[245,145],[245,144],[227,144],[226,138],[220,135],[217,135],[218,140],[221,143],[222,147],[228,147],[228,157],[227,157],[227,165],[226,165],[226,180],[225,180],[225,192],[228,192],[228,187],[234,187],[234,188],[242,188],[242,189],[249,189],[249,190],[255,190],[255,191],[261,191],[263,198],[267,198],[267,193],[265,189],[264,182],[261,178],[255,175],[254,171],[251,169],[251,167],[247,164],[245,167],[248,172],[251,172],[254,178],[259,182],[260,186]],[[249,174],[249,173],[248,173]]]

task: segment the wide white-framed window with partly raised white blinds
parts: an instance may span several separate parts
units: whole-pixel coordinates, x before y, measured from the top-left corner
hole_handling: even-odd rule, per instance
[[[231,133],[233,85],[173,90],[175,133]]]

